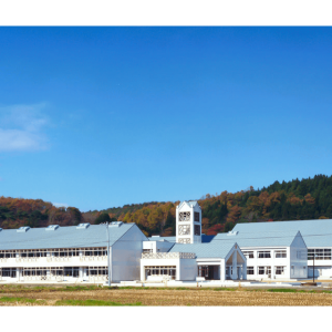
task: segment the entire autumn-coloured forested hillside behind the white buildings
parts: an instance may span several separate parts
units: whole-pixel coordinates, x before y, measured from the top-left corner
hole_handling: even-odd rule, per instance
[[[276,181],[262,189],[222,191],[198,199],[203,208],[203,232],[228,231],[237,222],[332,219],[332,176]],[[136,222],[148,236],[175,235],[176,203],[145,203],[83,212],[74,207],[56,208],[41,199],[0,197],[0,227],[45,227],[51,224],[73,226],[111,220]]]

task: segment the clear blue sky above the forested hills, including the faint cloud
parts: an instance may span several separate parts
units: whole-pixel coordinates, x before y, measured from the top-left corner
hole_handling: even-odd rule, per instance
[[[330,27],[0,27],[0,195],[82,211],[331,175]]]

